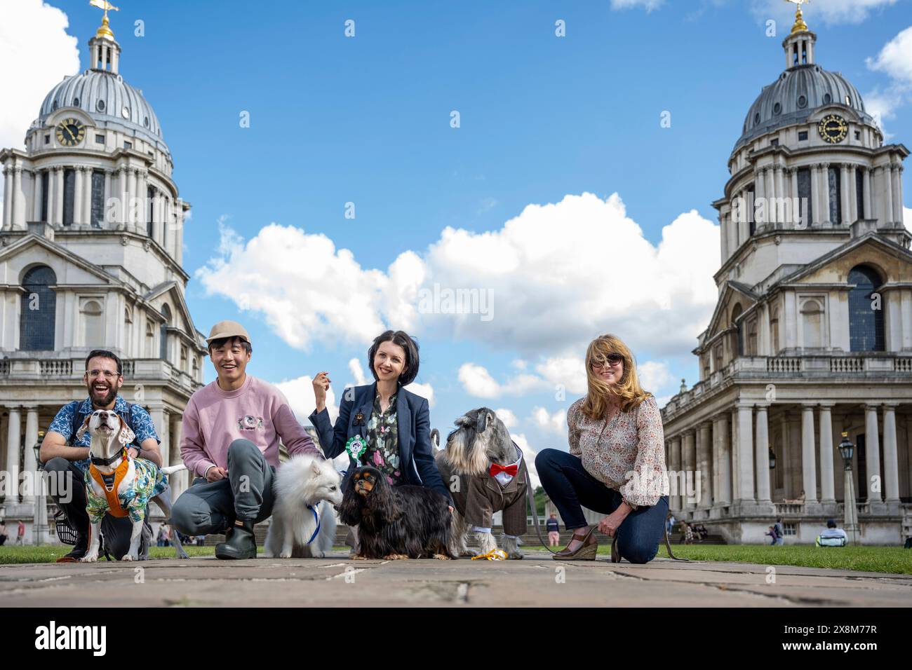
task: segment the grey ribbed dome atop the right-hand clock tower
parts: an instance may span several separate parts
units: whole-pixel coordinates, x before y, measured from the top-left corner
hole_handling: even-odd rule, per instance
[[[858,90],[838,72],[816,64],[790,67],[754,100],[735,149],[774,129],[803,123],[827,105],[851,108],[866,123],[874,122]]]

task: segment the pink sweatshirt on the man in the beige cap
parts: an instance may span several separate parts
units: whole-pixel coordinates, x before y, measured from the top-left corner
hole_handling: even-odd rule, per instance
[[[322,456],[282,391],[250,375],[236,391],[223,391],[216,380],[190,397],[183,412],[181,459],[199,477],[212,465],[227,469],[228,447],[238,438],[253,442],[274,467],[280,439],[290,455]]]

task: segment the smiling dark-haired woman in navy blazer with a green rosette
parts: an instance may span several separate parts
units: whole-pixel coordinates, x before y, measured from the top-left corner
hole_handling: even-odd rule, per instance
[[[367,458],[362,460],[370,465],[382,462],[383,467],[379,469],[396,478],[392,482],[394,486],[413,484],[437,490],[452,507],[450,490],[443,485],[431,452],[428,401],[403,388],[418,375],[418,345],[402,331],[388,330],[374,339],[368,351],[368,366],[376,381],[345,390],[335,427],[326,411],[326,390],[330,383],[328,373],[321,372],[314,377],[316,409],[309,418],[320,436],[324,455],[327,459],[337,457],[346,451],[349,438],[360,436],[368,443]],[[378,427],[376,430],[396,428],[398,449],[393,449],[396,453],[391,458],[398,457],[398,461],[392,461],[398,465],[397,468],[389,467],[389,458],[384,458],[389,456],[389,446],[381,455],[374,456],[378,460],[370,459],[377,445],[371,439],[373,431],[368,429],[372,413],[375,425],[382,425],[384,417],[391,417],[390,405],[394,401],[394,426]],[[348,459],[348,472],[351,473],[357,464],[350,454]]]

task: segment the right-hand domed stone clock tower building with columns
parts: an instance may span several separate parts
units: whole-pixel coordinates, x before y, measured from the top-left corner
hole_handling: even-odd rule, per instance
[[[693,350],[700,381],[662,410],[671,508],[730,542],[769,542],[779,517],[786,543],[811,543],[847,502],[859,541],[896,544],[912,534],[909,152],[884,143],[815,42],[799,7],[713,202],[719,301]]]

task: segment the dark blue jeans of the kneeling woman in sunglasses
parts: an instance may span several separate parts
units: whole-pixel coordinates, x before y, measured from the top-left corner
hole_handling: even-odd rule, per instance
[[[535,457],[535,469],[568,531],[584,528],[583,507],[599,514],[610,514],[621,504],[621,494],[609,489],[586,472],[583,461],[559,449],[543,449]],[[658,542],[665,534],[668,496],[651,507],[640,507],[627,514],[617,529],[617,551],[631,563],[647,563],[656,557]]]

